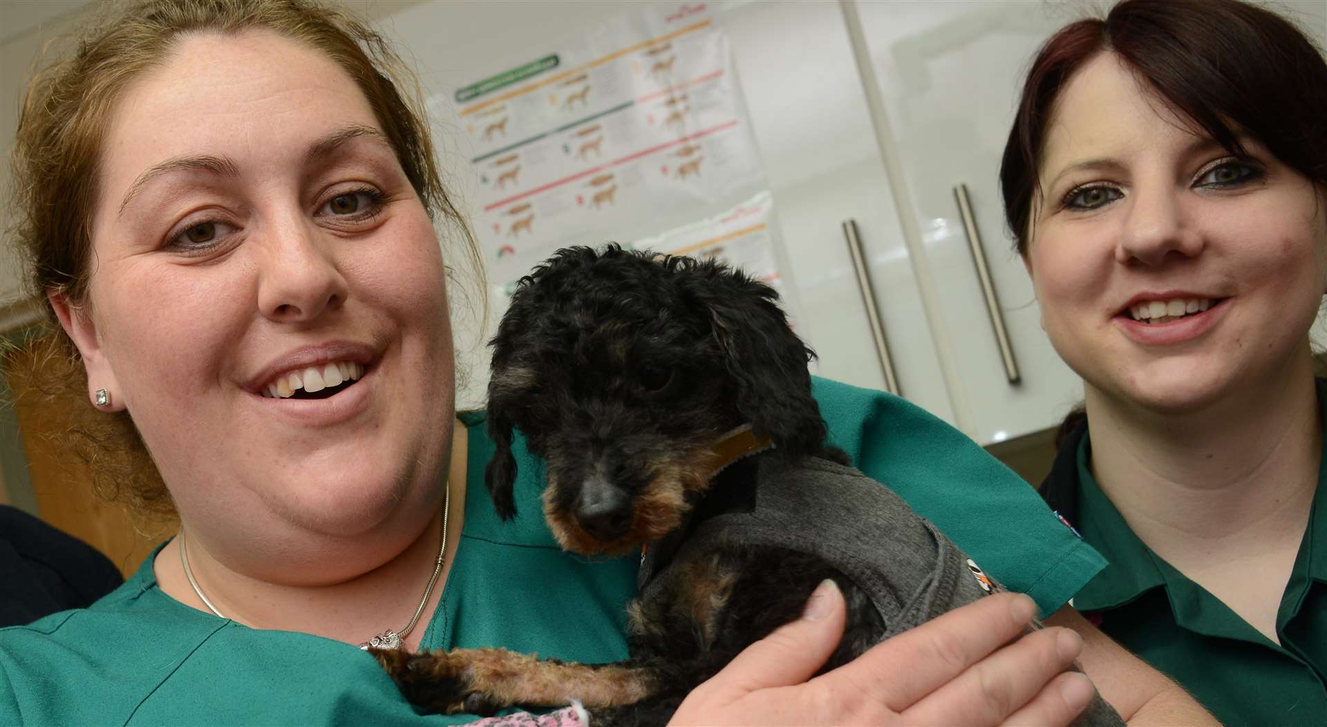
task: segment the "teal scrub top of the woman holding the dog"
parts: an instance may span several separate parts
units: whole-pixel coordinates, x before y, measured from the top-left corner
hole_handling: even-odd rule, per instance
[[[881,394],[817,379],[831,438],[893,487],[982,568],[1043,612],[1104,565],[1036,494],[943,422]],[[483,484],[492,455],[482,413],[470,432],[466,516],[423,646],[504,646],[541,657],[626,657],[625,604],[638,556],[564,553],[541,517],[543,468],[515,443],[519,508],[498,520]],[[154,553],[155,556],[155,553]],[[0,724],[433,724],[354,646],[251,629],[161,590],[149,557],[93,606],[0,629]]]

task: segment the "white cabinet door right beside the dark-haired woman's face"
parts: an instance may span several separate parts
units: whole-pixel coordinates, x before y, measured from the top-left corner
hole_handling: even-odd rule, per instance
[[[1028,1],[859,1],[912,214],[936,277],[947,341],[949,389],[982,444],[1055,425],[1082,398],[1079,378],[1040,328],[1032,287],[1011,251],[999,161],[1022,74],[1039,45],[1072,16]],[[1080,12],[1075,7],[1072,12]],[[1018,379],[1005,365],[955,188],[971,202]]]

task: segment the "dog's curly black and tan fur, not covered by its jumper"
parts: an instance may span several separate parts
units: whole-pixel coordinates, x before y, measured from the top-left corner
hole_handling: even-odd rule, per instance
[[[491,345],[494,505],[504,519],[516,512],[511,446],[520,430],[547,462],[549,528],[575,552],[622,553],[677,529],[710,487],[715,443],[743,425],[774,444],[764,456],[847,463],[825,446],[807,371],[815,354],[790,329],[778,293],[719,261],[616,244],[559,251],[520,280]],[[616,516],[596,520],[605,503]],[[407,698],[434,710],[484,714],[576,696],[596,724],[662,724],[742,649],[798,618],[827,577],[849,605],[831,669],[878,641],[869,598],[813,556],[752,547],[715,553],[686,593],[634,602],[632,658],[620,665],[492,649],[378,658]]]

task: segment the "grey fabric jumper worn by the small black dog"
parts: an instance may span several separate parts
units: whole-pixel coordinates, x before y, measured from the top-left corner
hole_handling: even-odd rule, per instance
[[[825,459],[762,452],[717,475],[691,520],[646,551],[641,598],[674,589],[681,565],[746,545],[824,559],[874,604],[882,639],[1003,590],[889,487]],[[1124,720],[1096,696],[1075,724]]]

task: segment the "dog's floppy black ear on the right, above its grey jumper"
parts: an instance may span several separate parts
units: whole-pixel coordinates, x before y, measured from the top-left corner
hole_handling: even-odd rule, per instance
[[[791,458],[816,452],[824,443],[825,425],[807,370],[815,352],[788,328],[779,295],[714,261],[682,271],[681,277],[689,279],[690,295],[709,310],[738,411],[751,429]]]

